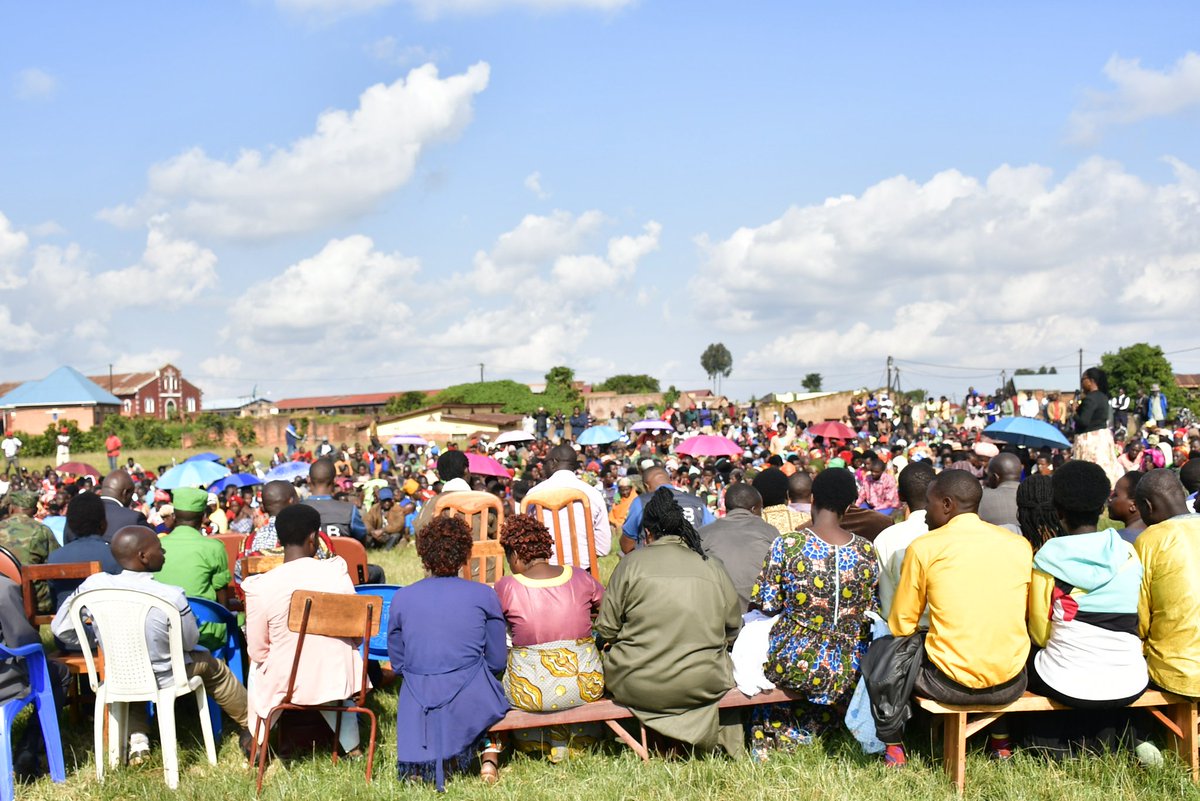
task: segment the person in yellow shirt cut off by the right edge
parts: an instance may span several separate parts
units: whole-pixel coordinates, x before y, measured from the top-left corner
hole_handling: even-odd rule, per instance
[[[1142,564],[1138,633],[1150,679],[1200,698],[1200,514],[1190,513],[1187,490],[1165,468],[1141,477],[1134,500],[1146,523],[1133,548]]]

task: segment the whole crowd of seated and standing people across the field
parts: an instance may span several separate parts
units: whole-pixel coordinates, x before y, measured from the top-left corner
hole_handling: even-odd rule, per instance
[[[539,409],[526,436],[506,445],[390,447],[372,428],[365,447],[300,442],[276,448],[266,465],[239,451],[228,466],[259,482],[218,493],[158,489],[162,468],[132,458],[95,484],[18,466],[0,487],[0,546],[22,564],[101,562],[102,573],[38,592],[64,648],[78,646],[67,610],[90,589],[140,589],[179,608],[190,675],[238,723],[247,753],[288,689],[290,592],[353,592],[335,553],[337,537],[352,537],[380,550],[414,544],[427,574],[396,591],[386,621],[404,779],[440,789],[478,760],[497,781],[510,742],[488,729],[509,709],[556,711],[605,694],[662,751],[749,747],[769,759],[848,729],[901,766],[913,693],[1006,704],[1030,689],[1078,713],[992,731],[992,755],[1020,743],[1054,753],[1128,745],[1152,764],[1160,754],[1128,704],[1148,687],[1200,697],[1200,432],[1169,417],[1159,398],[1157,387],[1145,403],[1123,390],[1110,397],[1097,368],[1069,401],[971,390],[955,405],[863,393],[841,438],[815,434],[791,406],[628,406],[607,421]],[[1002,416],[1042,418],[1074,444],[1030,448],[985,435]],[[666,424],[635,428],[644,420]],[[624,435],[574,441],[594,424]],[[700,434],[736,447],[680,453]],[[511,475],[473,475],[472,454]],[[260,481],[296,460],[308,465],[300,477]],[[620,555],[605,584],[589,553],[556,548],[562,517],[521,513],[522,501],[562,488],[588,498],[590,519],[577,523],[596,558]],[[493,495],[504,514],[473,525],[443,514],[448,496],[464,492]],[[234,565],[210,536],[227,532],[242,537]],[[506,571],[472,565],[482,540],[500,544]],[[242,558],[262,555],[280,566],[242,576]],[[382,583],[372,568],[368,580]],[[10,631],[10,616],[22,615],[5,608],[13,597],[19,607],[6,582],[8,643],[29,632]],[[224,632],[196,626],[188,597],[245,609],[247,686],[197,648]],[[161,639],[150,645],[155,669],[166,670]],[[318,648],[295,699],[352,698],[356,644]],[[0,698],[5,687],[19,692],[18,674],[4,666]],[[718,703],[734,686],[784,688],[797,700],[733,715]],[[336,747],[360,752],[353,715],[328,722]],[[144,716],[132,716],[131,731],[142,759]],[[511,745],[559,761],[601,737],[589,725],[547,727]],[[28,746],[18,767],[34,759]]]

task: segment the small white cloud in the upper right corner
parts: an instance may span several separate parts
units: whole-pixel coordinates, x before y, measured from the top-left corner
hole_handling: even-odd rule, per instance
[[[1200,107],[1200,53],[1188,52],[1169,70],[1148,70],[1139,59],[1114,55],[1104,65],[1111,91],[1090,91],[1072,113],[1068,138],[1088,144],[1112,125],[1128,125]]]

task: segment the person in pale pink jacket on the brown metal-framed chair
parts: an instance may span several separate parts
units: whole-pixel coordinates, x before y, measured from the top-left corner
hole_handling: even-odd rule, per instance
[[[271,707],[283,700],[295,661],[299,636],[288,627],[292,594],[295,590],[344,592],[354,595],[354,583],[341,556],[318,560],[317,537],[320,514],[311,506],[288,506],[275,518],[275,531],[283,547],[283,564],[272,571],[251,576],[242,582],[246,594],[246,650],[250,656],[247,705],[250,730]],[[304,654],[296,666],[296,704],[340,703],[356,694],[362,679],[360,643],[336,637],[305,638]],[[322,712],[329,728],[336,725],[335,712]],[[342,715],[337,740],[343,753],[359,752],[356,715]],[[263,740],[265,741],[265,731]]]

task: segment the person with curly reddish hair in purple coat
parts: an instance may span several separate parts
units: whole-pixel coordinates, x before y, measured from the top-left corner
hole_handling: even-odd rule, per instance
[[[400,777],[445,789],[446,772],[464,772],[482,748],[482,776],[496,781],[497,749],[487,729],[509,701],[497,676],[508,661],[504,613],[486,584],[457,577],[470,554],[470,529],[434,518],[416,538],[431,573],[396,591],[388,621],[388,656],[403,675],[396,711]]]

